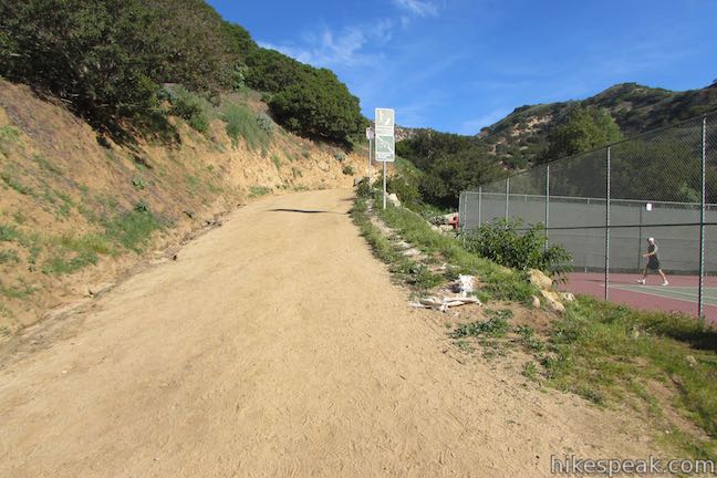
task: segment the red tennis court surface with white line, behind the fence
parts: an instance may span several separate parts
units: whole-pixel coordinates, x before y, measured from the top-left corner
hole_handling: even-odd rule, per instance
[[[647,277],[647,284],[636,281],[641,274],[611,273],[610,301],[624,303],[636,309],[679,311],[697,315],[696,276],[668,276],[669,285],[662,287],[659,276]],[[568,276],[568,282],[560,285],[561,290],[573,293],[592,295],[599,299],[605,297],[605,276],[602,272],[573,272]],[[709,285],[709,287],[708,287]],[[714,277],[705,280],[703,313],[707,322],[717,325],[717,280]]]

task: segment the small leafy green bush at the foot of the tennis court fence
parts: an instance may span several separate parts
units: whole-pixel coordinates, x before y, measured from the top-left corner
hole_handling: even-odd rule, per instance
[[[526,271],[539,269],[552,276],[570,271],[572,256],[562,246],[545,247],[542,225],[523,227],[520,219],[497,219],[466,233],[466,249],[501,266]]]

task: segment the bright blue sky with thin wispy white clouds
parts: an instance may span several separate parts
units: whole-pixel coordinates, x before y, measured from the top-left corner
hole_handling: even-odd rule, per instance
[[[209,0],[262,46],[333,70],[364,114],[478,133],[523,104],[717,79],[714,0]]]

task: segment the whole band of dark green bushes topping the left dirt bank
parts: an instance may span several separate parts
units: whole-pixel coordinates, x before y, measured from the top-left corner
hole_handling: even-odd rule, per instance
[[[347,143],[364,123],[333,73],[259,48],[204,0],[2,2],[0,75],[113,132],[169,127],[167,83],[212,103],[246,86],[272,93],[276,119],[306,136]]]

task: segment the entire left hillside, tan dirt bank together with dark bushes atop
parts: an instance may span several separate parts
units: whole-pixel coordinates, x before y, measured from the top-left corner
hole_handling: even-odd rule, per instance
[[[0,3],[0,340],[256,197],[351,187],[367,123],[204,0]]]

